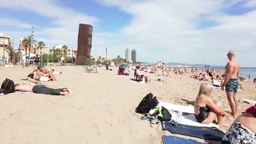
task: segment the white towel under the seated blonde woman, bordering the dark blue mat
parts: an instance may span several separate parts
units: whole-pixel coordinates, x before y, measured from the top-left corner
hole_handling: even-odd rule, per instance
[[[171,119],[178,121],[177,120],[177,113],[170,112],[171,113]],[[187,126],[200,126],[200,127],[216,127],[219,128],[218,125],[214,123],[210,124],[203,124],[203,123],[198,123],[196,117],[193,115],[188,115],[188,116],[182,116],[181,120],[179,121],[180,124],[187,125]]]

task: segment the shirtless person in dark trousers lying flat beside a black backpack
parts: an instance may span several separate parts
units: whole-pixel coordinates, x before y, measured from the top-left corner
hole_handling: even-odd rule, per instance
[[[34,92],[35,94],[67,95],[68,88],[50,88],[46,85],[15,84],[15,91]]]

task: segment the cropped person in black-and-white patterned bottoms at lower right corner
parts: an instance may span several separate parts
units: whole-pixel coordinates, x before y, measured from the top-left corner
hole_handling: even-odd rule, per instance
[[[222,144],[252,144],[256,143],[256,104],[245,110],[230,126]]]

